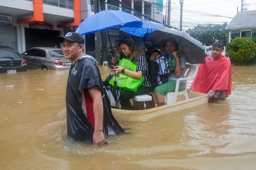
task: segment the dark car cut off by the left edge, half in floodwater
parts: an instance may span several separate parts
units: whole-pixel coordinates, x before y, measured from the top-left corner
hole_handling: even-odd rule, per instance
[[[27,63],[14,48],[0,46],[0,73],[27,71]]]

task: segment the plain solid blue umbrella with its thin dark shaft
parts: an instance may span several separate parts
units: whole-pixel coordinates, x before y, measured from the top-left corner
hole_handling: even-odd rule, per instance
[[[77,28],[76,33],[80,35],[84,35],[87,33],[95,33],[104,29],[113,28],[116,26],[120,26],[122,24],[132,22],[132,21],[139,21],[140,18],[135,17],[132,14],[129,14],[124,11],[117,11],[117,10],[109,10],[109,11],[100,11],[92,16],[86,18]],[[108,34],[108,39],[109,34]],[[110,42],[111,46],[111,42]],[[115,57],[112,46],[111,46],[113,57]]]

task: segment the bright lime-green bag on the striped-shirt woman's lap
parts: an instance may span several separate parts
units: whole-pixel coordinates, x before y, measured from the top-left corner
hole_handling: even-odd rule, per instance
[[[119,66],[124,67],[127,70],[136,71],[137,63],[133,64],[130,60],[122,59],[119,61]],[[125,90],[129,90],[132,92],[137,92],[138,87],[141,85],[141,83],[144,80],[144,76],[142,76],[141,79],[134,79],[126,74],[120,73],[117,76],[113,76],[109,84],[114,86],[114,81],[116,80],[117,87],[120,87]]]

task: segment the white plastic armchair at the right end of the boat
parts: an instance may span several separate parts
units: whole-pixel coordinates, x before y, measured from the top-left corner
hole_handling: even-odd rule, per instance
[[[186,67],[183,70],[183,73],[184,74],[186,73],[185,78],[178,78],[176,82],[175,92],[169,92],[165,95],[166,104],[175,103],[178,95],[184,95],[186,97],[186,100],[189,99],[188,92],[187,92],[188,79],[193,78],[196,75],[196,72],[197,72],[197,67],[195,65],[186,64]],[[168,81],[169,81],[169,78],[168,78]],[[180,85],[180,81],[182,80],[185,81],[185,89],[179,92],[179,85]]]

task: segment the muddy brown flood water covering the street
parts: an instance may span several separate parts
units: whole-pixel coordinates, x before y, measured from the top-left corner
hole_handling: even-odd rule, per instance
[[[105,79],[108,67],[99,68]],[[68,70],[1,73],[0,169],[255,169],[255,73],[232,66],[226,100],[119,121],[129,133],[102,148],[67,139]]]

